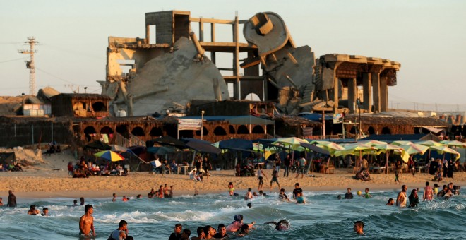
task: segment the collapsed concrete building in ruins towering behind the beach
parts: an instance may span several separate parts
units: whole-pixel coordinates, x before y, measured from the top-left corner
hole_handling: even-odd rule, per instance
[[[196,24],[198,36],[191,30]],[[232,42],[216,42],[216,25],[232,27]],[[239,42],[241,25],[247,42]],[[217,66],[220,53],[232,54],[231,68]],[[364,92],[359,109],[383,112],[399,69],[398,62],[374,57],[316,59],[311,47],[294,43],[277,13],[221,20],[162,11],[145,13],[145,38],[109,37],[107,79],[100,84],[102,94],[112,98],[114,116],[121,110],[129,116],[185,112],[191,100],[244,100],[249,94],[277,102],[285,114],[354,112],[359,86]]]

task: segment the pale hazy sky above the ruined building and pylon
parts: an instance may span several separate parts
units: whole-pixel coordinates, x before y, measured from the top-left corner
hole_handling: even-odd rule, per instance
[[[34,36],[37,90],[101,93],[108,37],[145,37],[145,13],[191,11],[191,17],[282,17],[297,46],[316,56],[352,54],[401,63],[389,107],[466,111],[466,1],[1,1],[0,95],[29,93],[25,68]],[[191,25],[198,28],[196,25]],[[231,28],[216,27],[217,42]],[[240,33],[242,29],[240,30]],[[225,33],[225,34],[222,34]],[[241,42],[245,42],[244,37]]]

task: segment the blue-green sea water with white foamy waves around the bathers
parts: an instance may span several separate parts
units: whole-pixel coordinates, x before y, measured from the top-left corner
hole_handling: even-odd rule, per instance
[[[356,191],[357,189],[354,189]],[[198,226],[230,224],[233,216],[244,215],[244,222],[256,221],[256,229],[241,239],[347,239],[361,237],[353,232],[357,220],[364,222],[364,239],[465,239],[466,197],[449,200],[436,198],[421,201],[417,208],[386,206],[388,198],[398,191],[374,191],[373,198],[354,193],[352,200],[338,200],[345,192],[304,192],[306,204],[278,200],[269,193],[252,200],[240,196],[207,194],[175,196],[174,198],[132,197],[122,202],[112,198],[86,198],[94,207],[96,239],[107,239],[120,220],[128,222],[134,239],[168,239],[174,225],[181,223],[197,236]],[[287,193],[291,196],[291,193]],[[422,196],[422,191],[419,192]],[[17,208],[0,208],[1,239],[78,239],[78,222],[84,206],[71,206],[72,198],[19,199]],[[246,206],[252,204],[252,208]],[[27,215],[30,205],[42,211],[49,208],[49,217]],[[278,232],[264,222],[288,220],[290,229]],[[239,238],[239,237],[232,237]]]

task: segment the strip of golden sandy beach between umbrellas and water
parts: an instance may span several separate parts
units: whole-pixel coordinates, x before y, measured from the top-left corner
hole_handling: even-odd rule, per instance
[[[30,150],[32,151],[32,150]],[[28,159],[33,157],[33,164],[25,167],[25,172],[0,172],[0,196],[6,199],[8,190],[13,190],[18,198],[110,198],[112,193],[117,196],[143,197],[151,188],[159,188],[161,184],[174,186],[174,196],[182,194],[193,194],[198,190],[199,194],[227,192],[230,181],[234,184],[236,191],[243,194],[247,188],[257,191],[258,181],[256,177],[236,177],[234,170],[221,170],[211,172],[212,176],[204,178],[203,182],[189,179],[182,174],[152,174],[149,172],[131,172],[129,176],[90,176],[86,179],[73,179],[68,176],[66,169],[69,161],[76,162],[69,152],[61,152],[52,156],[17,152],[17,159]],[[371,174],[371,181],[359,181],[352,179],[354,174],[348,173],[347,169],[336,169],[335,174],[311,173],[314,176],[295,178],[290,173],[289,177],[282,177],[280,170],[279,182],[286,191],[292,191],[294,183],[299,182],[305,191],[345,191],[350,187],[354,192],[364,188],[371,191],[399,189],[399,184],[394,184],[394,174]],[[270,191],[270,175],[272,170],[264,170],[268,179],[265,181],[265,192]],[[401,184],[406,184],[408,189],[423,188],[426,181],[431,181],[433,176],[426,173],[401,174]],[[466,185],[466,173],[455,172],[453,179],[444,179],[439,185],[453,182],[458,186]],[[434,183],[431,181],[431,186]],[[274,183],[272,191],[278,191]]]

